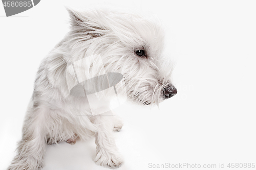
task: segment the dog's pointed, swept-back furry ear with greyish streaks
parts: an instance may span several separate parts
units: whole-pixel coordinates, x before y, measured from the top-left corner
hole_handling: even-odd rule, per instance
[[[104,30],[102,26],[98,25],[98,23],[94,20],[93,17],[87,16],[78,11],[74,11],[70,8],[67,8],[70,18],[71,18],[71,26],[72,29],[78,32],[92,32],[97,30]]]

